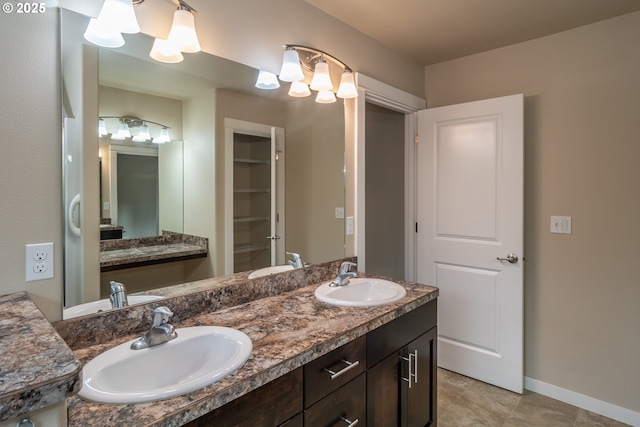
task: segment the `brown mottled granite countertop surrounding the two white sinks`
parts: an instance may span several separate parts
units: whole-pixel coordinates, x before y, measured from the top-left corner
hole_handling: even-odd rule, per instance
[[[302,274],[302,273],[301,273]],[[305,282],[313,283],[313,282]],[[201,390],[136,405],[99,404],[79,396],[67,400],[69,426],[180,426],[316,359],[353,339],[437,298],[434,287],[398,281],[406,290],[402,300],[378,307],[338,307],[318,301],[317,284],[300,287],[218,311],[172,321],[176,328],[219,325],[246,333],[253,343],[247,362],[235,373]],[[171,300],[165,303],[177,314]],[[75,355],[87,362],[139,334],[92,343],[76,342]]]

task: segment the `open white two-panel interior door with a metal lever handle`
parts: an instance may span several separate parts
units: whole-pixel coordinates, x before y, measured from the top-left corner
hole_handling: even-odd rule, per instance
[[[438,365],[522,393],[523,96],[422,110],[418,133],[417,281],[440,289]]]

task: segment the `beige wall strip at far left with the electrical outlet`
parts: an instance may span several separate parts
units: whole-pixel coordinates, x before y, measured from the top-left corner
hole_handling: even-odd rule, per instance
[[[25,290],[55,320],[62,313],[58,11],[3,14],[0,34],[0,294]],[[55,276],[27,283],[24,245],[41,242],[54,244]]]

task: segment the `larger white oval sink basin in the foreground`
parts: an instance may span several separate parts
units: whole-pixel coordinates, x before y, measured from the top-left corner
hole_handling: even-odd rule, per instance
[[[166,343],[132,350],[131,343],[108,350],[85,365],[80,396],[101,403],[142,403],[206,387],[236,371],[253,345],[236,329],[196,326],[176,329]]]

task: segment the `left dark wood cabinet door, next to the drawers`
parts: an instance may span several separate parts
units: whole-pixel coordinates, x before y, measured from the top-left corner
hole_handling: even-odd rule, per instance
[[[368,426],[400,425],[399,352],[394,352],[367,372]]]

